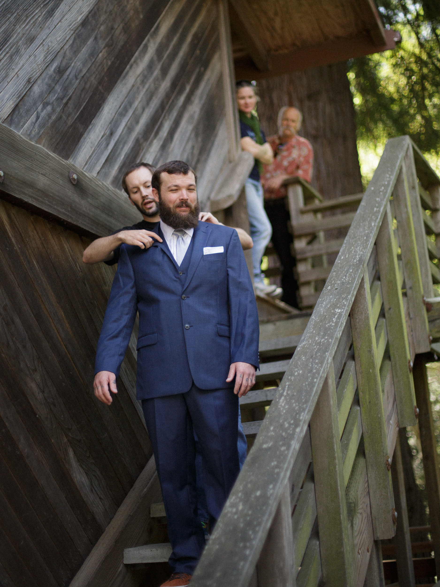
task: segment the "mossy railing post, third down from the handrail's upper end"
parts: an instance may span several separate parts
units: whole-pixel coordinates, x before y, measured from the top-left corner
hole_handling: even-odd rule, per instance
[[[387,430],[366,264],[351,306],[350,319],[374,538],[392,538],[395,532],[392,518],[394,497],[388,470]]]

